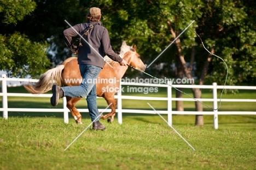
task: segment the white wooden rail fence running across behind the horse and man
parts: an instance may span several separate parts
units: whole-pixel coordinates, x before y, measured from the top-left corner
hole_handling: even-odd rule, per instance
[[[8,119],[8,112],[63,112],[64,122],[68,123],[68,108],[66,107],[66,98],[63,98],[63,108],[8,108],[8,96],[17,96],[17,97],[48,97],[50,98],[51,94],[40,94],[32,95],[30,93],[8,93],[7,92],[7,81],[20,81],[20,82],[30,82],[34,83],[38,80],[36,79],[19,79],[19,78],[7,78],[5,74],[1,75],[0,81],[2,81],[2,108],[0,112],[3,112],[3,118]],[[212,110],[211,112],[196,112],[196,111],[173,111],[172,110],[172,101],[195,101],[193,98],[172,98],[172,86],[176,88],[199,88],[199,89],[212,89],[213,98],[198,98],[198,101],[201,102],[213,102],[213,108],[218,107],[218,102],[220,101],[217,98],[217,89],[223,89],[223,86],[218,86],[216,83],[212,85],[166,85],[166,84],[142,84],[142,83],[121,83],[122,85],[132,85],[132,86],[151,86],[151,87],[166,87],[167,88],[167,97],[142,97],[142,96],[122,96],[121,90],[115,95],[115,98],[118,100],[117,113],[118,113],[118,122],[122,124],[122,113],[145,113],[145,114],[156,114],[154,110],[136,110],[136,109],[122,109],[122,99],[132,99],[132,100],[153,100],[153,101],[167,101],[167,110],[159,110],[160,114],[167,114],[167,121],[172,125],[172,115],[173,114],[183,114],[183,115],[213,115],[213,124],[214,128],[218,129],[218,115],[256,115],[256,112],[218,112],[218,110]],[[224,89],[246,89],[246,90],[256,90],[255,86],[225,86]],[[256,102],[256,99],[221,99],[222,102]],[[99,112],[102,112],[104,109],[98,109]],[[88,112],[88,109],[78,109],[79,112]],[[256,110],[255,110],[256,111]],[[110,112],[110,109],[107,109],[105,112]]]

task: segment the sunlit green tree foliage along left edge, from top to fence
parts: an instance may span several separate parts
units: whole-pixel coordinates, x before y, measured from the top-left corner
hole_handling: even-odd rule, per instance
[[[47,44],[32,42],[25,34],[15,31],[15,26],[35,8],[36,3],[30,0],[0,2],[0,68],[9,76],[36,77],[50,66]]]

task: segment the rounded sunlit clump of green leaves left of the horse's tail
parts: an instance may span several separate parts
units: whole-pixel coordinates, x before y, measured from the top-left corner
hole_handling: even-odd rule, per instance
[[[0,61],[1,68],[13,77],[37,77],[49,67],[46,57],[47,44],[31,42],[26,36],[15,32],[3,38]],[[6,48],[8,46],[8,49]],[[21,48],[22,47],[22,48]]]

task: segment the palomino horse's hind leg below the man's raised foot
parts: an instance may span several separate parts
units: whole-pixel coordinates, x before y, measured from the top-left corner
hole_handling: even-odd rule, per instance
[[[82,115],[78,112],[77,108],[75,108],[75,104],[81,99],[80,97],[68,97],[67,98],[67,108],[70,110],[72,116],[74,117],[75,122],[77,124],[82,124]]]

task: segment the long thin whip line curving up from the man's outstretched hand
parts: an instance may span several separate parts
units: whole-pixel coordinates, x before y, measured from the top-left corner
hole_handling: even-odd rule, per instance
[[[195,33],[196,33],[196,32],[195,32]],[[199,35],[198,35],[197,33],[196,33],[196,35],[199,37]],[[200,37],[199,37],[199,38],[200,38]],[[201,38],[200,38],[200,40],[201,40],[201,42],[202,42],[202,39],[201,39]],[[202,42],[202,45],[203,45],[203,42]],[[203,45],[203,48],[205,48],[205,45]],[[206,49],[206,48],[205,48],[205,49]],[[206,49],[206,51],[208,51],[208,50]],[[208,52],[209,52],[210,54],[212,54],[210,51],[208,51]],[[214,56],[220,58],[220,59],[225,63],[225,65],[226,65],[226,62],[225,62],[221,57],[219,57],[219,56],[217,56],[217,55],[215,55],[215,54],[212,54],[212,55],[214,55]],[[158,79],[159,81],[161,81],[161,82],[164,83],[164,84],[167,84],[167,83],[165,83],[165,81],[162,81],[162,80],[160,80],[159,78],[156,78],[156,77],[154,77],[153,75],[150,75],[150,74],[148,74],[148,73],[142,71],[141,69],[137,69],[137,68],[132,67],[132,66],[130,66],[130,65],[127,65],[127,66],[129,66],[129,67],[131,67],[131,68],[133,68],[133,69],[136,69],[137,71],[140,71],[140,72],[142,72],[142,73],[144,73],[144,74],[147,74],[147,75],[149,75],[149,76],[152,77],[152,78]],[[225,79],[224,86],[225,86],[225,84],[226,84],[226,80],[228,79],[228,73],[229,73],[229,68],[228,68],[228,65],[226,65],[226,79]],[[167,85],[173,87],[173,86],[170,85],[170,84],[167,84]],[[207,105],[207,104],[205,104],[205,103],[203,103],[203,102],[200,102],[200,101],[197,100],[196,98],[194,98],[194,97],[190,96],[189,94],[187,94],[187,93],[185,93],[185,92],[183,92],[183,91],[177,89],[176,87],[173,87],[173,88],[174,88],[175,90],[179,91],[179,92],[182,92],[184,95],[187,95],[187,96],[189,96],[190,98],[193,98],[195,101],[197,101],[197,102],[199,102],[199,103],[205,105],[205,106],[208,107],[208,108],[211,108],[211,109],[213,109],[213,110],[218,110],[218,109],[220,108],[220,104],[221,104],[221,101],[222,101],[222,93],[223,93],[223,91],[224,91],[224,86],[223,86],[222,92],[220,93],[219,107],[218,107],[217,109],[214,109],[214,108],[210,107],[209,105]]]

